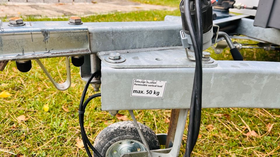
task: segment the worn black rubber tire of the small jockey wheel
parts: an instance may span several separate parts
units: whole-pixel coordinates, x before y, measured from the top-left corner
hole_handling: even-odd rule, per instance
[[[157,136],[148,126],[138,123],[140,129],[149,145],[150,150],[159,149],[160,144],[157,140]],[[142,142],[139,133],[132,121],[123,121],[111,124],[102,130],[95,138],[94,147],[101,154],[106,155],[106,151],[109,147],[120,140],[136,140]],[[143,142],[142,142],[143,143]],[[94,157],[97,157],[94,154]]]

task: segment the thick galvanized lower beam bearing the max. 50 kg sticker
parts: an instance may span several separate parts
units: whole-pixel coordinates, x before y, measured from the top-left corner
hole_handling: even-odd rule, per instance
[[[217,67],[203,68],[203,108],[280,108],[280,63],[217,62]],[[101,109],[189,108],[194,72],[195,68],[112,68],[102,62]],[[133,79],[167,81],[163,99],[131,97]]]

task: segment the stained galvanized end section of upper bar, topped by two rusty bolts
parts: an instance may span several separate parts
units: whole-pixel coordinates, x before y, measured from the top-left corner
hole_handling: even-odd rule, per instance
[[[90,53],[88,28],[67,22],[2,23],[0,60],[26,60]]]

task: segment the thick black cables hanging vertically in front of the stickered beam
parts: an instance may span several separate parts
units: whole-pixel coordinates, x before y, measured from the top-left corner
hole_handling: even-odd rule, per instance
[[[196,7],[196,21],[197,23],[197,32],[195,33],[194,25],[190,15],[190,6],[189,0],[184,1],[184,12],[185,19],[188,25],[188,29],[190,32],[190,37],[193,44],[193,49],[195,51],[195,77],[192,89],[192,98],[190,104],[190,115],[189,115],[189,124],[188,124],[188,137],[187,144],[185,149],[185,155],[190,157],[190,154],[195,146],[197,141],[199,127],[200,127],[200,119],[201,119],[201,99],[202,99],[202,18],[201,18],[201,8],[199,0],[195,1]],[[199,40],[197,40],[197,38]]]

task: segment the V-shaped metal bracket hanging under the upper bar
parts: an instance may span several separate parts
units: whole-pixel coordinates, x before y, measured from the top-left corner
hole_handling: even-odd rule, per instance
[[[70,62],[69,62],[69,56],[65,57],[65,63],[66,63],[66,72],[67,72],[67,80],[64,83],[57,83],[53,79],[53,77],[50,75],[46,67],[43,65],[40,59],[35,59],[38,65],[43,69],[45,74],[48,76],[49,80],[53,83],[56,89],[58,90],[67,90],[71,86],[71,74],[70,74]]]

